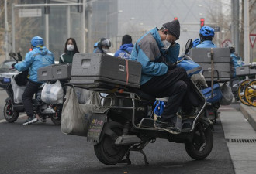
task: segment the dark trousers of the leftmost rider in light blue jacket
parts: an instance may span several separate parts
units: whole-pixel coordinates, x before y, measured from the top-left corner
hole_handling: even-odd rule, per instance
[[[26,84],[24,94],[22,95],[22,103],[24,105],[26,114],[29,117],[32,117],[33,114],[34,114],[32,98],[33,98],[33,95],[36,93],[36,91],[38,90],[38,88],[40,86],[41,86],[40,83],[36,83],[36,82],[28,80],[28,83]]]

